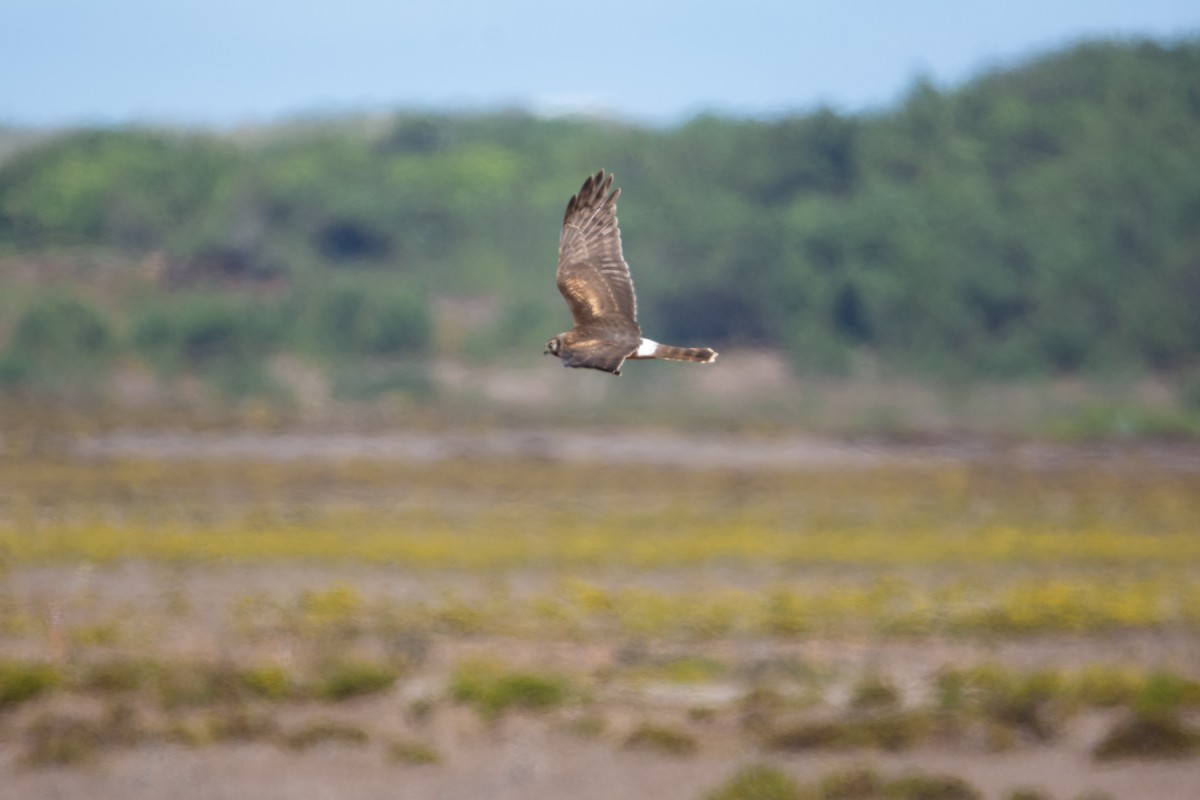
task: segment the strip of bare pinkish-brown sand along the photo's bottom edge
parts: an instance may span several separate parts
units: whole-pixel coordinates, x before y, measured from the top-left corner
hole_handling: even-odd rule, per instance
[[[672,758],[581,740],[528,717],[509,718],[444,752],[440,765],[409,766],[388,763],[373,747],[326,745],[290,753],[268,744],[200,750],[155,745],[119,752],[95,766],[28,770],[5,764],[0,798],[698,800],[739,766],[756,762],[780,766],[802,782],[864,764],[888,775],[949,774],[996,800],[1022,787],[1060,799],[1106,792],[1118,800],[1194,800],[1200,788],[1194,760],[1098,766],[1075,744],[988,757],[944,748],[840,756],[710,748]]]

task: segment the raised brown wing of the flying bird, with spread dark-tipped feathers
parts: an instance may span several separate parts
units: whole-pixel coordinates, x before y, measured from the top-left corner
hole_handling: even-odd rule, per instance
[[[601,169],[566,204],[558,239],[558,290],[577,329],[641,335],[637,296],[620,252],[612,175]],[[636,344],[635,344],[636,347]]]

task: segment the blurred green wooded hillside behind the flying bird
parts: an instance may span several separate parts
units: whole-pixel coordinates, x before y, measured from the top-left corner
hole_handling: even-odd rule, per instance
[[[0,162],[0,383],[77,391],[124,359],[270,393],[277,353],[536,353],[566,324],[562,209],[605,167],[656,337],[806,372],[1154,372],[1192,402],[1198,73],[1200,41],[1096,42],[857,115],[62,132]],[[439,297],[492,311],[443,330]]]

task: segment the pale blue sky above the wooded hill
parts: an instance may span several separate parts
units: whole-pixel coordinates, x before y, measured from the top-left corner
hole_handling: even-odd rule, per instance
[[[1196,35],[1195,0],[2,0],[0,124],[854,112],[1084,37]]]

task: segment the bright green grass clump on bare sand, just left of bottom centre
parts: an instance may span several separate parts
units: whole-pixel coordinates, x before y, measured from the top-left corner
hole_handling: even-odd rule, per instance
[[[493,661],[467,661],[450,678],[450,696],[494,720],[508,709],[546,711],[563,705],[577,690],[565,675],[509,670]]]

